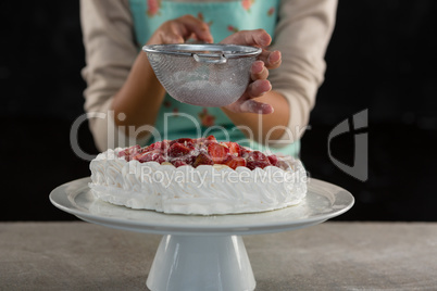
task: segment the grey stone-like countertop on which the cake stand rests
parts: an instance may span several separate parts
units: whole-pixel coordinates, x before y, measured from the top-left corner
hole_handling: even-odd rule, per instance
[[[0,290],[147,290],[161,236],[0,223]],[[244,237],[255,290],[437,290],[436,223],[324,223]]]

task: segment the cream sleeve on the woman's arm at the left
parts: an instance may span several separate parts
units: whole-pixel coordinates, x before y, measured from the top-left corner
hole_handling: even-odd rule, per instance
[[[80,0],[80,23],[86,52],[82,71],[87,83],[85,111],[89,116],[107,116],[89,118],[96,146],[103,151],[126,139],[108,114],[138,54],[128,0]]]

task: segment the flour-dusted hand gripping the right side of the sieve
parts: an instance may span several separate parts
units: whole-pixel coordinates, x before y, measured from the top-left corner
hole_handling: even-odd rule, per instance
[[[251,81],[247,90],[236,102],[224,109],[234,113],[273,113],[272,105],[255,100],[272,90],[272,85],[267,80],[269,69],[278,67],[282,62],[279,51],[266,50],[271,42],[272,38],[264,29],[241,30],[222,41],[222,43],[254,46],[263,49],[250,69]]]

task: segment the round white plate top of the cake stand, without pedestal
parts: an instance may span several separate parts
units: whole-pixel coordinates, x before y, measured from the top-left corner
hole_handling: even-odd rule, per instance
[[[235,215],[174,215],[132,210],[96,199],[90,178],[64,184],[50,193],[50,201],[80,219],[112,228],[160,235],[255,235],[279,232],[323,223],[352,207],[353,197],[335,185],[311,179],[307,198],[283,210]]]

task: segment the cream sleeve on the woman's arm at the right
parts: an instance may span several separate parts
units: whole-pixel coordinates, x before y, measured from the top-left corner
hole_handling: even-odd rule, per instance
[[[273,90],[290,106],[288,128],[294,141],[309,122],[319,87],[324,80],[325,52],[335,26],[337,0],[283,0],[271,50],[283,55],[280,67],[270,71]],[[287,134],[282,140],[289,140]]]

